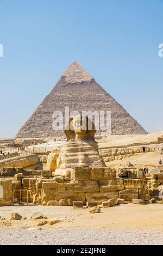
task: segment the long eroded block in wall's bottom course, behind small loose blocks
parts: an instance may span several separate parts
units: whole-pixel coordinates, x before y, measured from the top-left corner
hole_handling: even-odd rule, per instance
[[[102,204],[102,202],[105,202],[106,200],[109,200],[111,198],[114,198],[115,200],[117,200],[118,192],[114,191],[114,192],[86,193],[87,202],[97,201],[98,204]]]

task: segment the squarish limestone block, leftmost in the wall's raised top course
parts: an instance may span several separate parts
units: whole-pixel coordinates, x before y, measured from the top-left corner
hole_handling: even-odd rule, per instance
[[[91,176],[90,167],[74,167],[73,179],[74,180],[89,180]]]

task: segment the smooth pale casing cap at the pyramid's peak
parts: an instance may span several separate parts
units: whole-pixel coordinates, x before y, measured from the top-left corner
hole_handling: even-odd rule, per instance
[[[93,77],[76,60],[72,62],[63,75],[67,83],[80,83],[90,81]]]

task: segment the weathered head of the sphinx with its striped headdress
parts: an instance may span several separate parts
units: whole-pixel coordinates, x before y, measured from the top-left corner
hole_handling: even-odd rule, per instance
[[[90,138],[94,140],[95,133],[95,125],[88,117],[82,117],[82,115],[74,115],[72,118],[70,118],[65,129],[67,141],[72,138]]]

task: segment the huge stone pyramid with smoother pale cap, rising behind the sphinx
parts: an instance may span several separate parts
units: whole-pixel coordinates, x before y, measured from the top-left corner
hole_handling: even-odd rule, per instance
[[[15,137],[63,136],[64,131],[53,130],[52,115],[54,111],[64,113],[65,107],[79,112],[111,111],[111,132],[115,135],[147,134],[78,62],[73,62]]]

